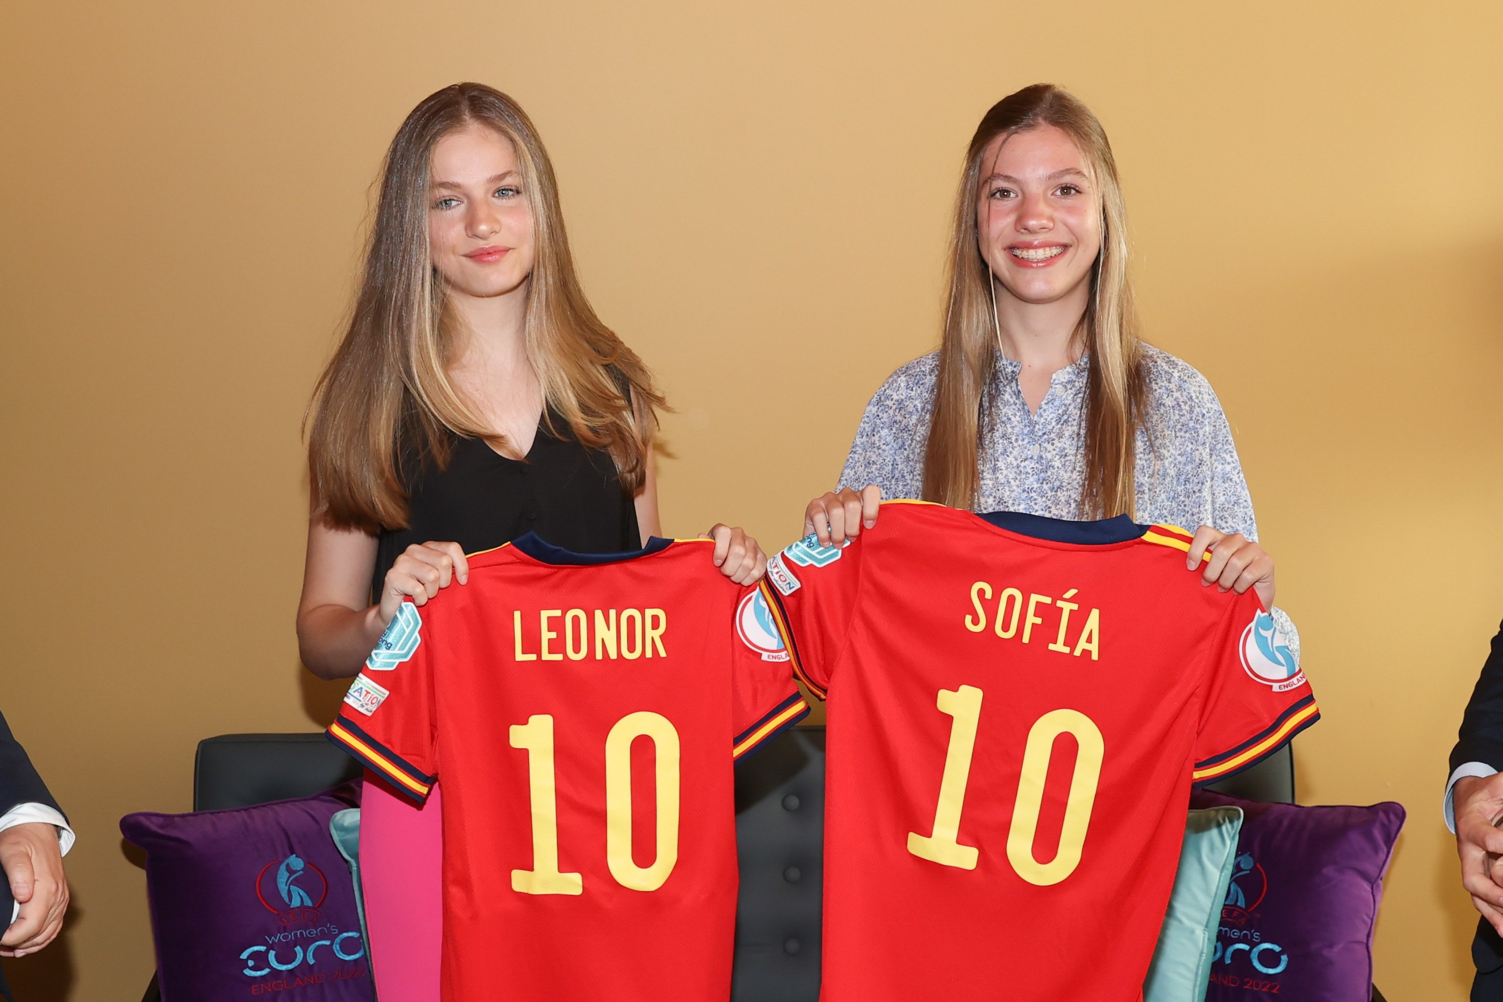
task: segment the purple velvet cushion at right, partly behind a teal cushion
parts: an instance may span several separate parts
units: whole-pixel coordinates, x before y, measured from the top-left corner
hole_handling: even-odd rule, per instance
[[[1240,807],[1243,825],[1207,1002],[1369,1002],[1372,925],[1404,807],[1190,796],[1223,805]]]

